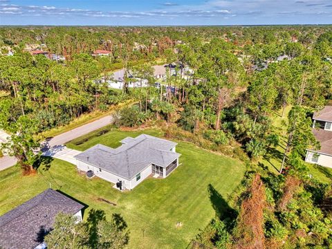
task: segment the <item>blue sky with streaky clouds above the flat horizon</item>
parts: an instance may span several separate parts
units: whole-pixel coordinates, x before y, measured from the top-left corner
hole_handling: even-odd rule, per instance
[[[331,0],[0,0],[0,25],[331,24]]]

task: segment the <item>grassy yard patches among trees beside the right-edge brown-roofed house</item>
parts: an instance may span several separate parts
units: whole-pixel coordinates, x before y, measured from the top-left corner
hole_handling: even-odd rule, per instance
[[[284,156],[284,151],[287,143],[287,120],[288,113],[291,111],[291,106],[286,108],[284,118],[282,118],[282,110],[277,111],[273,115],[273,125],[279,133],[279,145],[269,149],[266,155],[259,160],[258,165],[268,169],[269,172],[273,174],[279,174],[279,169],[282,166],[282,158]],[[311,163],[306,163],[309,169],[309,173],[313,178],[323,183],[332,183],[332,169],[328,167],[322,167],[319,165],[313,165]]]

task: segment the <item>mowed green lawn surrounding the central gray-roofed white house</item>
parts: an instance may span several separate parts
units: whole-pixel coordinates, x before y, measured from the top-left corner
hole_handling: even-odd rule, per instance
[[[80,145],[75,145],[80,143],[75,140],[68,147],[84,150],[96,143],[116,147],[122,138],[140,133],[162,135],[158,130],[113,130],[98,137],[90,136],[89,140],[85,137],[86,142]],[[51,186],[89,205],[85,219],[92,208],[104,210],[108,218],[113,213],[121,214],[130,230],[129,248],[186,248],[215,215],[208,186],[211,184],[220,194],[219,200],[212,201],[230,204],[246,167],[239,160],[190,143],[178,142],[176,149],[182,154],[182,164],[171,175],[165,179],[147,178],[134,190],[124,193],[102,179],[87,179],[77,173],[75,165],[62,160],[51,161],[48,170],[42,165],[34,176],[21,176],[17,167],[11,167],[0,172],[0,215]],[[183,225],[176,228],[177,222]]]

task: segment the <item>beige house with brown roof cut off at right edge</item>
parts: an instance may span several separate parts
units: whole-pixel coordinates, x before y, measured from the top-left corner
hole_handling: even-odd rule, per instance
[[[332,106],[313,114],[313,134],[320,141],[320,149],[308,149],[306,162],[332,167]]]

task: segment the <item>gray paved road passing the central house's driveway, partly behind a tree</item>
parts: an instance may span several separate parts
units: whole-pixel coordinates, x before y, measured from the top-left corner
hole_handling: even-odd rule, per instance
[[[77,127],[72,129],[71,131],[67,131],[65,133],[59,134],[54,138],[50,138],[46,141],[46,147],[43,151],[47,151],[48,149],[52,149],[53,147],[57,147],[59,145],[64,145],[66,142],[69,142],[75,138],[79,138],[91,131],[95,131],[96,129],[100,129],[108,124],[113,122],[113,116],[109,115],[104,118],[100,118],[99,120],[95,120],[90,122],[89,124],[84,124],[81,127]],[[45,144],[45,142],[43,142]],[[0,170],[7,169],[8,167],[12,167],[15,165],[17,160],[10,156],[3,156],[0,158]]]

